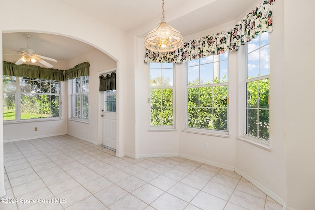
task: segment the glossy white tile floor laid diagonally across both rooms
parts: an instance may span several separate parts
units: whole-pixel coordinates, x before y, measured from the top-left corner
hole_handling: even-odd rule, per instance
[[[240,175],[180,157],[117,158],[77,138],[4,143],[2,210],[282,210]]]

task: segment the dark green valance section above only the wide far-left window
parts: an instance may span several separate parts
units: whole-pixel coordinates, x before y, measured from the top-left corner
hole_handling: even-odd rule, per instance
[[[63,72],[64,70],[48,69],[28,64],[16,65],[11,62],[3,61],[3,75],[64,81]]]

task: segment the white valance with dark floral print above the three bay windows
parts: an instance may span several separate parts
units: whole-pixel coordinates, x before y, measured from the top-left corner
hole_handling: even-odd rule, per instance
[[[145,63],[182,63],[210,55],[217,55],[226,51],[236,51],[263,32],[272,32],[272,5],[275,0],[260,3],[227,32],[220,32],[197,40],[185,42],[180,49],[172,52],[160,53],[146,50]]]

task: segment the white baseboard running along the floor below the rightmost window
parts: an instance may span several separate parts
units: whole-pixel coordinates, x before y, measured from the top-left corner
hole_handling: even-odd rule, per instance
[[[266,195],[268,195],[270,198],[272,198],[273,200],[275,200],[278,204],[280,204],[281,206],[283,206],[285,208],[285,202],[284,199],[282,199],[281,197],[279,197],[276,193],[272,192],[271,190],[269,190],[267,187],[263,186],[261,183],[259,183],[258,181],[256,181],[255,179],[253,179],[251,176],[243,173],[242,171],[240,171],[239,169],[235,168],[235,172],[239,175],[241,175],[242,177],[244,177],[246,180],[248,180],[250,183],[252,183],[255,187],[257,187],[258,189],[260,189],[262,192],[264,192]],[[294,209],[288,209],[286,207],[286,210],[294,210]]]

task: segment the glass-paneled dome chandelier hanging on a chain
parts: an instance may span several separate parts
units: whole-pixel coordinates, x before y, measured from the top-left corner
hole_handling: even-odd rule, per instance
[[[164,22],[164,0],[162,9],[162,22],[146,35],[144,41],[144,46],[154,52],[174,51],[183,45],[182,34]]]

